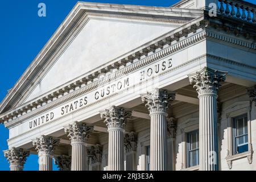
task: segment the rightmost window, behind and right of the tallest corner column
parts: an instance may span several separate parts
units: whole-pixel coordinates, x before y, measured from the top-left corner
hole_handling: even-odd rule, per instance
[[[247,115],[233,118],[233,154],[241,154],[248,151],[248,127]]]

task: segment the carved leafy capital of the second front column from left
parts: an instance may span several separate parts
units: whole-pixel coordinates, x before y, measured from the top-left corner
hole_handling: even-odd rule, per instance
[[[36,140],[33,141],[33,145],[35,149],[38,151],[39,155],[52,155],[53,152],[60,143],[60,139],[48,137],[48,136],[42,136],[39,138],[36,138]]]

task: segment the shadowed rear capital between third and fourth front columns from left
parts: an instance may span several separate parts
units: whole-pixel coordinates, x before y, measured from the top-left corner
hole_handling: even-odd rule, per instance
[[[101,163],[102,146],[100,144],[96,144],[96,146],[91,146],[87,149],[87,154],[91,164]]]

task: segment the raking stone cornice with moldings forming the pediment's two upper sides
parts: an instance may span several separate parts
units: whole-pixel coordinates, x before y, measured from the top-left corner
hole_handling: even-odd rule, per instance
[[[170,9],[168,7],[113,5],[106,3],[78,2],[64,22],[53,34],[46,46],[32,61],[30,67],[23,73],[19,81],[9,90],[1,102],[0,113],[10,110],[20,104],[20,95],[26,96],[24,91],[30,90],[35,84],[35,78],[40,71],[47,69],[58,53],[63,50],[83,23],[89,18],[112,18],[123,20],[137,20],[144,23],[177,24],[187,23],[189,20],[203,14],[201,10]]]

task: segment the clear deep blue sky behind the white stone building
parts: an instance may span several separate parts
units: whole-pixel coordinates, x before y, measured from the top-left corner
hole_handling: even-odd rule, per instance
[[[93,0],[87,2],[119,3],[130,5],[171,6],[179,0],[138,1],[138,0]],[[249,0],[256,2],[256,0]],[[45,3],[47,16],[39,18],[38,4]],[[48,39],[61,24],[77,1],[68,0],[13,0],[2,1],[0,6],[0,101],[7,90],[13,87],[34,57],[47,43]],[[9,131],[0,125],[0,171],[9,170],[9,164],[3,157],[8,148]],[[56,166],[53,167],[57,169]],[[24,170],[38,170],[38,156],[31,155]]]

